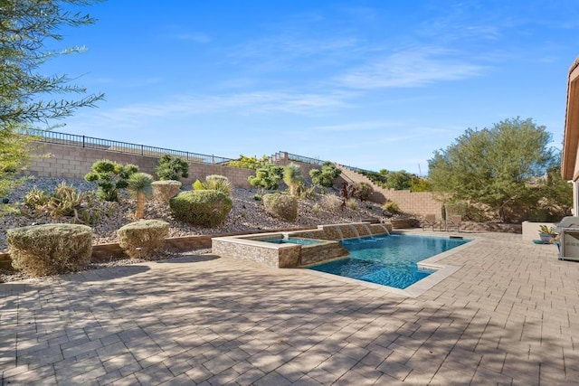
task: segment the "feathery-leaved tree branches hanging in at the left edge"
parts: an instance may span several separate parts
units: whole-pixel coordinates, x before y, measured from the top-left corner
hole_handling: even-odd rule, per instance
[[[43,75],[43,62],[81,48],[53,51],[49,42],[62,40],[62,26],[93,24],[88,14],[71,14],[71,5],[90,5],[92,0],[0,1],[0,194],[9,190],[29,157],[27,128],[70,116],[77,108],[94,106],[103,94],[80,100],[47,100],[51,94],[85,93],[66,75]],[[67,9],[65,9],[67,8]]]

